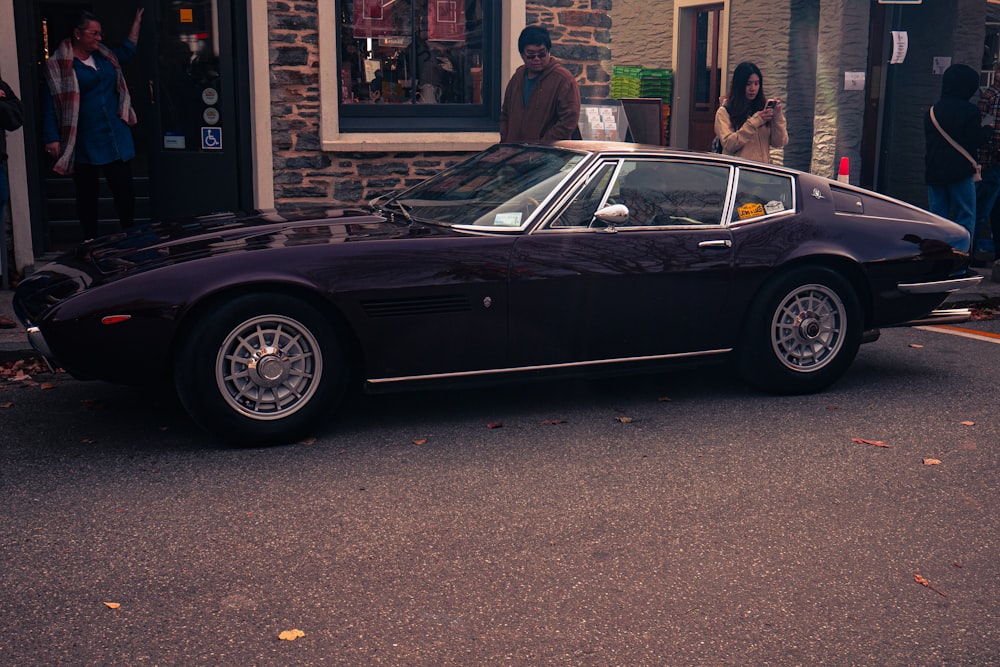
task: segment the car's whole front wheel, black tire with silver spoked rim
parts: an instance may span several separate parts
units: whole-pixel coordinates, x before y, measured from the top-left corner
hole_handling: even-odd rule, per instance
[[[174,385],[202,427],[234,445],[292,442],[339,402],[344,354],[315,308],[251,294],[206,310],[178,346]]]

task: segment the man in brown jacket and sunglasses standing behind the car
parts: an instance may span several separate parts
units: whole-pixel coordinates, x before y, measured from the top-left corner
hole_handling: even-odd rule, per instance
[[[517,39],[524,64],[507,84],[500,107],[500,141],[559,141],[573,137],[580,122],[580,89],[549,51],[552,39],[528,26]]]

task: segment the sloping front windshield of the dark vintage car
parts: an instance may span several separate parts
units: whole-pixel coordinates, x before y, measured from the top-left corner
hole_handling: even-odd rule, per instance
[[[499,144],[375,206],[452,227],[521,228],[586,157],[561,148]]]

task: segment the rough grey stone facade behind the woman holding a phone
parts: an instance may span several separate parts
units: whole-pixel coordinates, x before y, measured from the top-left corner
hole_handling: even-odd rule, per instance
[[[664,0],[656,3],[655,21],[645,0],[615,0],[611,11],[613,64],[675,70],[671,136],[684,148],[691,81],[685,16],[704,5]],[[834,177],[847,157],[852,183],[926,205],[923,115],[940,95],[935,58],[979,69],[995,4],[722,0],[717,6],[723,90],[732,69],[749,60],[763,71],[767,94],[785,104],[789,144],[775,152],[777,162]],[[898,64],[889,64],[892,31],[908,36]],[[862,89],[846,89],[848,73],[863,75]]]

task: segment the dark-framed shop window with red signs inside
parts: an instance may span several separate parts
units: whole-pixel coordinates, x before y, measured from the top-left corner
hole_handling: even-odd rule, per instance
[[[497,129],[501,0],[340,0],[338,10],[340,132]]]

